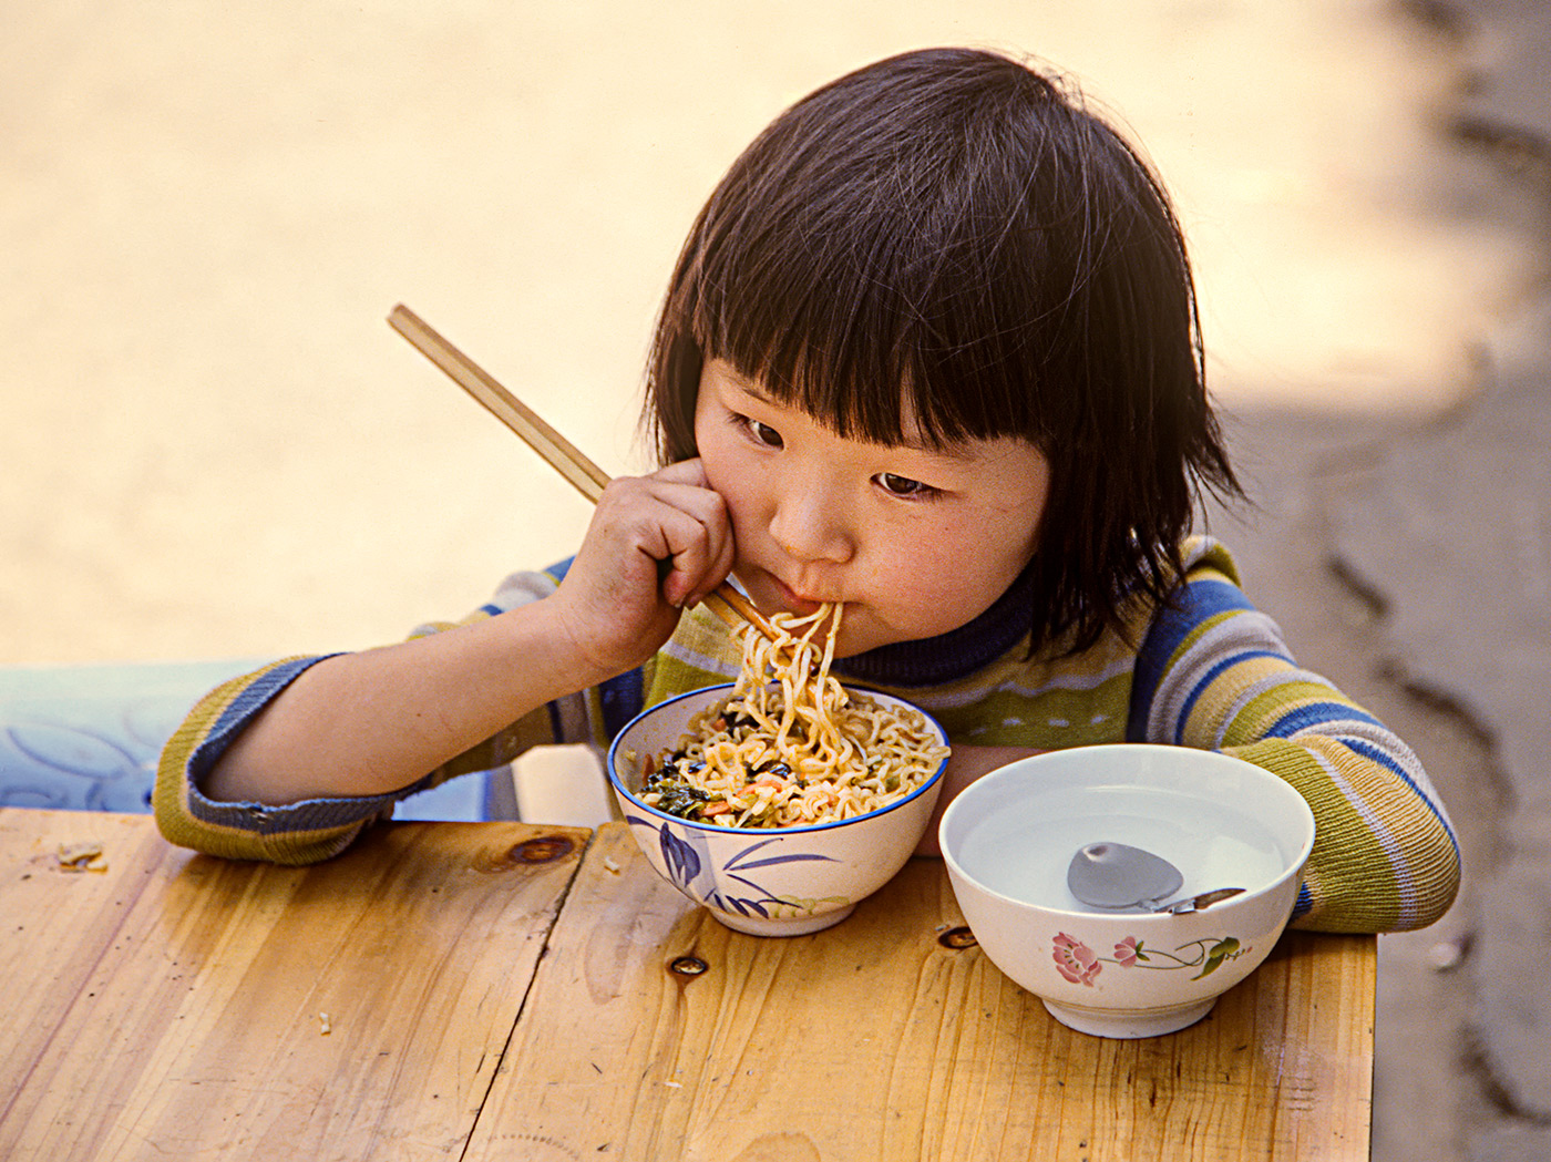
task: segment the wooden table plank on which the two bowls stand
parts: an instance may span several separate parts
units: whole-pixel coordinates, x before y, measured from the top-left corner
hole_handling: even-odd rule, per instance
[[[606,825],[468,1159],[1366,1157],[1371,937],[1294,934],[1199,1025],[1111,1041],[962,923],[914,859],[827,932],[737,935]]]

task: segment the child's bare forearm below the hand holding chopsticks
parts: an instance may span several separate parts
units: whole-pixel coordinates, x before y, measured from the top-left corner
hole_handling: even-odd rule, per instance
[[[206,796],[281,805],[406,787],[596,673],[546,602],[363,653],[292,683],[202,780]]]

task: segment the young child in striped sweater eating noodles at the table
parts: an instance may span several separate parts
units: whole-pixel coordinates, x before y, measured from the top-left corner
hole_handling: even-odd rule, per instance
[[[845,603],[838,673],[949,731],[943,805],[1042,749],[1221,749],[1314,807],[1295,925],[1418,928],[1453,900],[1416,757],[1187,537],[1202,492],[1239,486],[1185,245],[1148,166],[1055,82],[917,51],[779,116],[679,256],[647,420],[665,467],[614,481],[572,560],[459,625],[209,693],[161,759],[164,835],[323,859],[453,774],[606,745],[737,673],[696,605],[731,574],[768,613]]]

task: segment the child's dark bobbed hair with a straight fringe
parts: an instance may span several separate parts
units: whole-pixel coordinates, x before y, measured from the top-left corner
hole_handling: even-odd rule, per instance
[[[661,462],[721,358],[845,436],[1016,436],[1050,461],[1033,642],[1168,600],[1202,486],[1242,495],[1205,391],[1185,244],[1103,119],[979,50],[889,57],[782,113],[679,254],[647,374]]]

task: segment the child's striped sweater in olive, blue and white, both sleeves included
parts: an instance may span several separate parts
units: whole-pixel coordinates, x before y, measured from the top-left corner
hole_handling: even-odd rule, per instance
[[[1196,538],[1187,562],[1169,608],[1137,610],[1126,633],[1109,633],[1081,653],[1028,656],[1027,613],[1019,628],[1019,603],[1003,599],[943,639],[851,659],[851,676],[924,707],[960,745],[1151,742],[1245,759],[1286,779],[1314,810],[1317,838],[1294,926],[1383,932],[1441,917],[1458,889],[1459,850],[1416,756],[1331,683],[1298,667],[1275,622],[1239,590],[1221,545]],[[552,593],[563,569],[509,577],[470,619]],[[416,633],[440,628],[447,624]],[[921,645],[929,648],[912,648]],[[642,669],[541,707],[396,794],[290,807],[205,797],[203,773],[315,661],[273,662],[194,707],[157,776],[155,811],[168,839],[228,858],[324,859],[414,791],[498,766],[535,745],[606,746],[644,706],[738,672],[726,627],[696,610]]]

